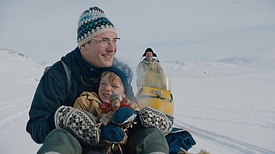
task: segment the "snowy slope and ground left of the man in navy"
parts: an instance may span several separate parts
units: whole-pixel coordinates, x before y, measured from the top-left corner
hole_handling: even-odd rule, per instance
[[[0,153],[36,153],[39,148],[25,124],[43,69],[28,56],[0,49]]]

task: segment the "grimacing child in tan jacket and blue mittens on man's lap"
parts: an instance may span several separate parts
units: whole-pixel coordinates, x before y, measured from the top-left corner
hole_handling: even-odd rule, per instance
[[[119,148],[121,148],[120,143],[126,143],[127,129],[137,116],[137,114],[131,113],[140,111],[140,108],[135,102],[131,102],[126,98],[131,90],[132,72],[122,64],[118,66],[119,67],[110,67],[104,70],[100,76],[98,94],[83,91],[80,97],[76,98],[74,104],[74,108],[88,111],[94,115],[99,120],[98,126],[103,124],[103,126],[100,126],[101,142],[97,146],[106,148],[110,148],[110,144],[108,144],[110,142],[111,144],[118,144]],[[127,107],[131,110],[118,111],[118,109],[122,107]],[[118,112],[115,113],[115,111]],[[127,114],[127,112],[130,114]],[[119,120],[115,120],[115,116],[119,117]],[[124,131],[124,136],[113,137],[113,135],[109,135],[109,133],[113,133],[110,129],[114,129],[114,131],[122,130]],[[109,149],[107,151],[109,151]]]

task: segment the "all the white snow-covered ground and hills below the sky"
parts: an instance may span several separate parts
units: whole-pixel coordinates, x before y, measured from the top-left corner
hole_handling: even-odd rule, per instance
[[[161,62],[171,80],[174,124],[197,142],[190,152],[275,153],[274,53],[263,49],[214,61]],[[44,67],[0,49],[0,153],[40,148],[25,125]],[[132,85],[136,90],[135,76]]]

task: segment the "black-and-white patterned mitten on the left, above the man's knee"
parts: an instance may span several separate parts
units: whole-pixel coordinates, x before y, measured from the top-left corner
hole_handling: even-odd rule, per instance
[[[56,128],[69,131],[80,143],[89,146],[99,142],[100,129],[97,121],[91,113],[74,107],[61,106],[54,115]]]

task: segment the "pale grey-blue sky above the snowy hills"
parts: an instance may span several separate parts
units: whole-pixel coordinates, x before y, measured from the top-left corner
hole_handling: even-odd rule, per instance
[[[132,68],[147,47],[160,61],[208,61],[275,48],[272,0],[1,0],[0,48],[52,64],[77,46],[78,18],[91,6],[117,28],[116,57]]]

